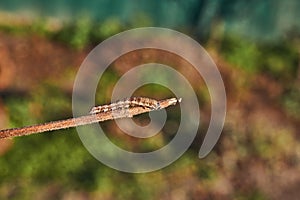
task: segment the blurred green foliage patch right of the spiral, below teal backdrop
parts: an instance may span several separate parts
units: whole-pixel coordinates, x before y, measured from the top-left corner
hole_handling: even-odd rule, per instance
[[[264,44],[225,36],[220,50],[226,60],[247,73],[264,72],[281,81],[295,78],[298,52],[289,41]]]

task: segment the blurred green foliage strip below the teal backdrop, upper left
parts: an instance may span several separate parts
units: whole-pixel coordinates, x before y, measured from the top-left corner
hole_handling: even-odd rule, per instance
[[[29,24],[11,25],[0,24],[0,30],[15,35],[39,35],[63,42],[70,47],[80,50],[91,44],[115,35],[125,28],[120,20],[108,18],[102,22],[92,21],[87,15],[81,15],[75,21],[61,22],[62,25],[52,27],[44,18],[39,18]]]

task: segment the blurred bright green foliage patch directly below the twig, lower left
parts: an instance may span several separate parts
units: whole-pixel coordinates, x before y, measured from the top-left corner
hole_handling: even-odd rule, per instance
[[[15,148],[0,159],[2,184],[23,180],[46,185],[67,185],[87,190],[95,186],[97,162],[91,158],[74,131],[60,131],[16,139]],[[21,190],[27,190],[22,186]]]

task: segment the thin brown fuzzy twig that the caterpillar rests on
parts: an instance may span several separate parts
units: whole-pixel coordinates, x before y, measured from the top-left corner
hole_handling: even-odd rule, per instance
[[[180,101],[181,99],[175,99],[175,98],[160,100],[159,109],[163,109],[171,105],[175,105],[177,102]],[[13,138],[17,136],[42,133],[46,131],[54,131],[59,129],[71,128],[71,127],[82,126],[86,124],[92,124],[92,123],[97,123],[97,122],[102,122],[102,121],[112,120],[112,119],[133,117],[134,115],[139,115],[150,111],[153,111],[153,109],[148,107],[137,106],[137,107],[129,107],[123,113],[122,112],[120,113],[101,112],[93,115],[89,114],[89,115],[84,115],[76,118],[69,118],[69,119],[64,119],[59,121],[51,121],[44,124],[37,124],[37,125],[26,126],[21,128],[5,129],[5,130],[0,130],[0,139]]]

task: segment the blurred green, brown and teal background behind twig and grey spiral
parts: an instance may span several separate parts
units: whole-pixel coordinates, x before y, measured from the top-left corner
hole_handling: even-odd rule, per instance
[[[112,63],[101,78],[99,104],[119,77],[140,63],[160,62],[197,92],[201,127],[172,165],[146,174],[110,169],[84,148],[76,130],[0,141],[0,199],[298,199],[300,196],[300,2],[237,0],[0,1],[0,128],[72,116],[76,72],[106,38],[145,26],[172,28],[197,40],[223,77],[227,117],[205,159],[198,151],[210,118],[201,77],[184,60],[153,50]],[[146,85],[137,95],[172,93]],[[136,139],[101,123],[120,147],[147,152],[176,134],[178,108],[153,138]],[[147,114],[134,118],[149,122]]]

